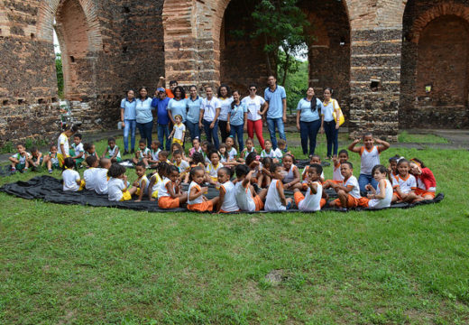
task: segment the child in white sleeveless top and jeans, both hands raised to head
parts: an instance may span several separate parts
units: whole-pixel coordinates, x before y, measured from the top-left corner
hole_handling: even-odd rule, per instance
[[[372,177],[372,168],[380,164],[380,153],[387,150],[391,144],[378,138],[373,138],[371,132],[367,132],[363,135],[363,145],[361,147],[355,147],[360,141],[361,139],[355,139],[355,141],[348,146],[348,150],[359,153],[362,157],[358,184],[360,185],[360,190],[365,192],[365,186],[368,184],[372,184],[374,189],[378,186],[378,183]],[[378,145],[374,145],[374,143]]]

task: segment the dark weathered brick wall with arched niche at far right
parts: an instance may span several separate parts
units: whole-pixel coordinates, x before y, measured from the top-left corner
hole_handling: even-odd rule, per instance
[[[402,33],[400,127],[468,127],[469,2],[409,1]]]

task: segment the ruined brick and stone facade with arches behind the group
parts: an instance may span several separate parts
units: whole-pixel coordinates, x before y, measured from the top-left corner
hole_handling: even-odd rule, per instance
[[[351,134],[396,139],[399,128],[466,128],[469,1],[300,0],[314,26],[309,83],[335,88]],[[55,136],[64,96],[85,129],[115,127],[127,89],[262,88],[262,46],[242,0],[0,0],[0,145]],[[262,95],[262,94],[261,94]]]

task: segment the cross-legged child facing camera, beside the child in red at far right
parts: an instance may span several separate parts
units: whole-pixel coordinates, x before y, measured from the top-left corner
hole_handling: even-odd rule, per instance
[[[418,200],[422,200],[414,191],[417,189],[417,181],[415,177],[409,173],[409,170],[409,161],[407,159],[400,159],[398,163],[398,175],[392,179],[392,187],[394,188],[392,203],[415,203]]]

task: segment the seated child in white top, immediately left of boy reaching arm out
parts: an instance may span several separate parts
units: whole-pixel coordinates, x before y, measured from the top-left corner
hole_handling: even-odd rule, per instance
[[[307,179],[305,180],[307,185],[306,196],[301,194],[298,189],[294,190],[293,197],[300,211],[318,211],[326,204],[326,200],[322,199],[322,172],[320,164],[310,164],[308,166]]]

